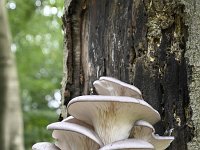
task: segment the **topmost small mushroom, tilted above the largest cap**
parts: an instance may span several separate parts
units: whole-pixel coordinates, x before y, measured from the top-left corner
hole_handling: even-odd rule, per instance
[[[93,85],[99,95],[130,96],[142,99],[141,91],[137,87],[112,77],[100,77]]]

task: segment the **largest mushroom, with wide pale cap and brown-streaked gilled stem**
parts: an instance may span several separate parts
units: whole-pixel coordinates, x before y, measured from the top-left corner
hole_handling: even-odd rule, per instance
[[[94,126],[104,144],[128,138],[137,120],[152,124],[160,120],[159,113],[144,100],[125,96],[79,96],[69,102],[68,112]]]

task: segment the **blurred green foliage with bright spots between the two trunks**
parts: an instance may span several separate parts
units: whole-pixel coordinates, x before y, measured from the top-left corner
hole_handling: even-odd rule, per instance
[[[16,55],[20,81],[26,150],[37,141],[52,140],[45,126],[58,119],[63,6],[63,1],[56,0],[6,3],[13,36],[11,50]]]

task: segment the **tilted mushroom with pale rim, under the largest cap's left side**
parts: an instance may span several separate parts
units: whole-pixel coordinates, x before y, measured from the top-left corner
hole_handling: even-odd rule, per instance
[[[52,123],[47,129],[54,130],[55,145],[62,150],[95,150],[103,145],[91,126],[73,117]]]

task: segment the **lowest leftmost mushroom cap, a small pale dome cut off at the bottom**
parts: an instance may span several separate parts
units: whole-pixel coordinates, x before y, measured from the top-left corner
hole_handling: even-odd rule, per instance
[[[40,142],[32,146],[32,150],[60,150],[53,143],[49,142]]]

